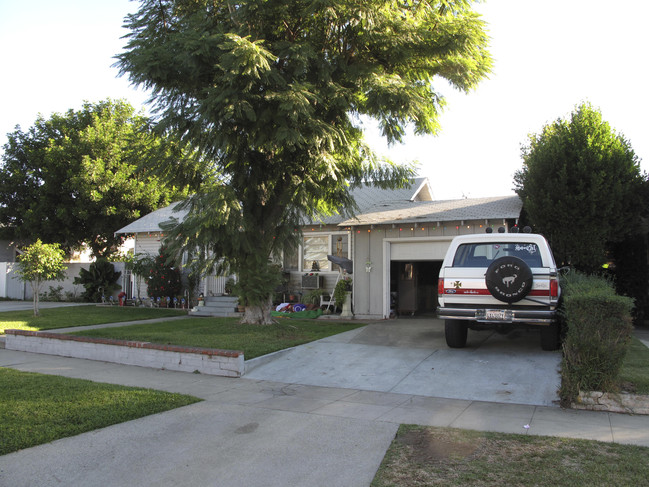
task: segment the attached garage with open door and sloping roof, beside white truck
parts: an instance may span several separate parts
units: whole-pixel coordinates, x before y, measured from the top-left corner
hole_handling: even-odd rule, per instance
[[[349,232],[358,318],[430,314],[451,241],[486,228],[516,225],[518,196],[448,201],[382,201],[338,224]]]

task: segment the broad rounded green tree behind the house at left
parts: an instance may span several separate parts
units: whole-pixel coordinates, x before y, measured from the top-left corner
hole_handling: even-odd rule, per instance
[[[8,134],[0,167],[0,225],[5,237],[87,244],[95,256],[117,249],[115,230],[195,188],[200,174],[163,184],[141,165],[191,166],[177,143],[152,131],[147,117],[124,101],[85,103],[81,110],[42,116],[26,132]],[[195,166],[192,166],[195,167]]]

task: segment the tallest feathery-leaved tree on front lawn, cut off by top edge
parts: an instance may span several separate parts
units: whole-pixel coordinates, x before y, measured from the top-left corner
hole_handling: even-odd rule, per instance
[[[118,65],[150,89],[159,128],[211,163],[170,249],[197,248],[239,277],[244,322],[268,323],[269,258],[303,217],[354,208],[351,189],[402,184],[377,160],[361,116],[389,142],[438,129],[435,78],[460,90],[491,66],[467,0],[141,0]]]

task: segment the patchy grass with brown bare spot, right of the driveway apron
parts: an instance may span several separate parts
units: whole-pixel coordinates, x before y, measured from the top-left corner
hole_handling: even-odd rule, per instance
[[[646,447],[402,425],[372,486],[637,486],[648,478]]]

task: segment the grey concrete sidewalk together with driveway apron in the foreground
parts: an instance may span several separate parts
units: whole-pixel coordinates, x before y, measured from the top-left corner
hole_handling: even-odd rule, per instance
[[[649,446],[649,417],[229,379],[0,350],[0,366],[203,402],[0,457],[0,485],[367,486],[400,423]]]

